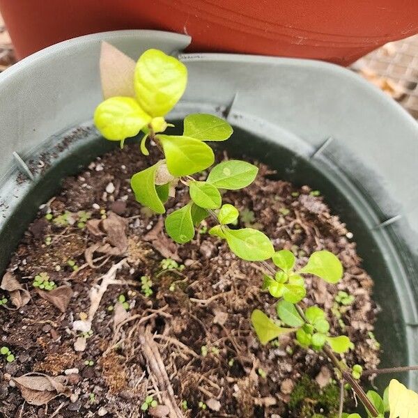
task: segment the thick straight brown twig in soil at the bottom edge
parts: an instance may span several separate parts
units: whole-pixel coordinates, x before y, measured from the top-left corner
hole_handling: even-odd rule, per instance
[[[142,353],[146,358],[146,362],[157,380],[157,385],[162,392],[162,401],[169,408],[169,418],[184,418],[180,408],[178,408],[174,390],[171,386],[169,376],[162,361],[160,351],[155,343],[153,336],[149,330],[144,330],[139,336],[142,346]]]

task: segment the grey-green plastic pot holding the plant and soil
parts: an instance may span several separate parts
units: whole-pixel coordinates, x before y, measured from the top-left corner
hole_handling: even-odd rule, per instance
[[[0,74],[0,272],[61,180],[113,146],[91,121],[101,100],[102,40],[137,59],[148,47],[177,54],[190,38],[99,33],[44,49]],[[189,85],[170,118],[224,115],[235,127],[226,142],[231,154],[320,189],[353,231],[375,280],[382,365],[417,364],[417,123],[377,88],[332,64],[227,54],[180,59]],[[418,389],[418,373],[397,377]]]

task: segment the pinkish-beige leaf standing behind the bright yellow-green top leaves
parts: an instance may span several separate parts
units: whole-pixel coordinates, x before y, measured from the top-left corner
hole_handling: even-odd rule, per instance
[[[100,50],[100,78],[105,99],[114,96],[134,97],[135,61],[107,42]]]

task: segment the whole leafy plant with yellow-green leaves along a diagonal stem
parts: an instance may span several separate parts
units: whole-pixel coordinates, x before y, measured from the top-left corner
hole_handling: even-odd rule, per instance
[[[280,334],[292,333],[300,346],[322,350],[329,357],[337,378],[350,384],[368,416],[384,417],[390,410],[390,418],[412,417],[408,410],[413,413],[418,410],[418,395],[396,380],[392,380],[382,398],[373,391],[366,394],[358,382],[361,367],[355,365],[350,369],[336,356],[353,349],[348,336],[331,335],[325,311],[300,303],[307,295],[304,279],[307,274],[329,284],[341,280],[343,268],[339,259],[330,251],[316,251],[305,265],[296,268],[299,263],[292,251],[275,251],[270,238],[257,229],[235,228],[240,214],[233,205],[222,203],[221,191],[247,187],[256,178],[258,168],[248,162],[227,160],[210,169],[215,155],[207,142],[229,139],[233,133],[231,125],[211,114],[190,114],[184,120],[182,135],[164,133],[173,126],[167,123],[165,116],[186,88],[185,65],[164,52],[148,49],[136,65],[132,63],[123,79],[130,79],[127,75],[131,73],[133,88],[130,85],[119,89],[131,95],[106,97],[95,110],[94,122],[104,138],[120,141],[121,146],[125,139],[142,132],[141,152],[149,155],[148,144],[157,146],[162,152],[160,161],[132,176],[131,186],[137,201],[157,214],[164,214],[164,204],[175,196],[177,185],[188,187],[189,202],[167,215],[165,229],[174,241],[184,244],[194,238],[196,226],[211,217],[216,223],[209,230],[211,235],[225,240],[239,258],[261,263],[265,270],[263,288],[278,300],[277,319],[272,320],[258,309],[251,314],[251,323],[261,343],[269,343]],[[102,81],[104,79],[102,72]],[[105,87],[103,91],[107,96],[109,88]],[[113,93],[118,91],[114,87],[110,88]],[[208,171],[204,181],[201,171]],[[251,218],[251,222],[253,220]],[[143,281],[142,291],[146,286],[147,296],[152,295],[151,285],[151,281]],[[341,304],[353,302],[346,294],[339,293],[339,297]],[[203,347],[207,353],[207,347]],[[143,407],[148,409],[148,403]],[[358,418],[359,415],[343,414],[341,417]]]

